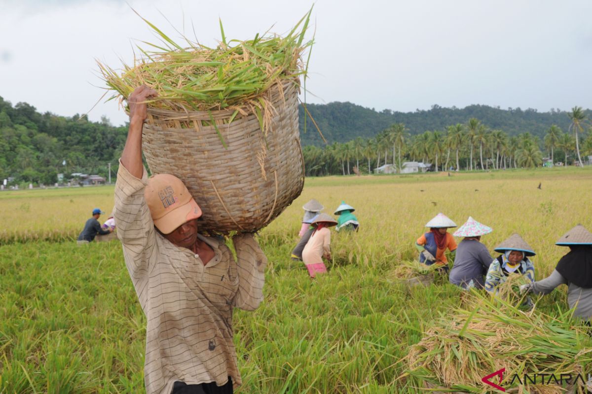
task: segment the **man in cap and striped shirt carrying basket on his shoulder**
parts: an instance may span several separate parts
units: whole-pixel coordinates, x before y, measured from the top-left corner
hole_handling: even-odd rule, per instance
[[[146,100],[155,96],[140,86],[128,98],[130,128],[115,184],[118,237],[147,317],[146,392],[232,393],[242,383],[233,307],[259,306],[267,259],[249,233],[233,237],[234,261],[223,240],[198,233],[201,209],[181,180],[147,178],[141,138]]]

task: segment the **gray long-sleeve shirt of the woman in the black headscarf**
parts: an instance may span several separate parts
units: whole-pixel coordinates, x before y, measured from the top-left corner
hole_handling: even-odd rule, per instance
[[[575,307],[575,316],[584,319],[592,317],[592,288],[585,289],[568,282],[556,269],[542,281],[533,282],[530,291],[534,294],[549,294],[559,285],[568,285],[567,302],[570,308]]]

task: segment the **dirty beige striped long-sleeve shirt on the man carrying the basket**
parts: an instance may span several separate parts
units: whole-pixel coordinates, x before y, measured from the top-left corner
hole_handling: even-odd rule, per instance
[[[267,259],[251,234],[233,237],[237,262],[222,240],[202,237],[214,249],[200,256],[156,232],[140,179],[120,164],[115,221],[127,270],[147,317],[144,382],[147,394],[169,394],[187,384],[232,377],[242,383],[233,344],[233,307],[255,310],[263,299]]]

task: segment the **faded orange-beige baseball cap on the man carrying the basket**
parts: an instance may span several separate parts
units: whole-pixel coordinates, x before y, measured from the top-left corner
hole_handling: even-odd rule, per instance
[[[201,216],[200,206],[175,175],[158,174],[150,177],[144,197],[155,226],[163,234],[172,233],[181,224]]]

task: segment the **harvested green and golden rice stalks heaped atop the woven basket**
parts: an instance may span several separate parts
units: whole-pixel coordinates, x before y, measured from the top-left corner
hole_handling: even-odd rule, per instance
[[[246,41],[229,40],[220,19],[221,41],[216,48],[186,37],[183,45],[176,43],[139,15],[155,31],[160,43],[140,41],[141,57],[134,59],[133,66],[123,64],[120,70],[97,61],[101,77],[112,91],[108,100],[117,98],[122,102],[144,84],[159,93],[150,104],[152,108],[182,112],[188,108],[231,109],[233,120],[237,111],[246,110],[256,113],[263,129],[274,109],[262,97],[275,84],[286,79],[299,83],[299,77],[306,75],[303,55],[313,44],[313,40],[305,39],[311,11],[284,37],[266,33]]]

